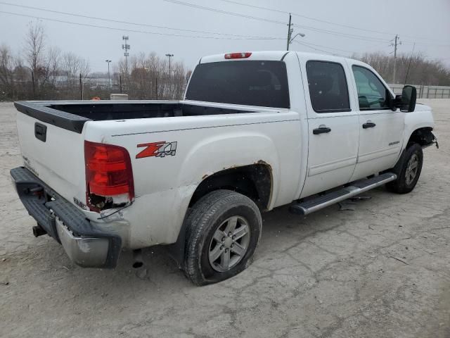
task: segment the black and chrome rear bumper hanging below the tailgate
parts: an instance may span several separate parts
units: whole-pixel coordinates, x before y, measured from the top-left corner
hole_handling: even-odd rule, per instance
[[[11,170],[13,185],[28,213],[63,245],[77,265],[85,268],[115,268],[122,239],[94,227],[79,209],[27,170]]]

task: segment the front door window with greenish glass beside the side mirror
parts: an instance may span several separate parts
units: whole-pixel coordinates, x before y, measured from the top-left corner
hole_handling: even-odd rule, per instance
[[[352,66],[361,111],[390,109],[390,92],[383,82],[367,68]]]

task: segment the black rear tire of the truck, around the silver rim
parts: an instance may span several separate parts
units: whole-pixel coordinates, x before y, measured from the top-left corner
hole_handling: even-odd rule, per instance
[[[213,239],[214,234],[228,224],[227,220],[234,219],[236,216],[238,217],[236,228],[239,229],[245,225],[249,229],[248,234],[245,234],[248,236],[245,238],[246,251],[238,256],[233,252],[238,247],[238,243],[233,244],[233,246],[236,245],[235,248],[228,249],[227,252],[229,252],[229,259],[232,256],[236,265],[230,266],[229,270],[217,271],[220,265],[210,263],[212,259],[210,251],[213,244],[215,249],[215,245],[221,243]],[[239,220],[242,220],[242,223]],[[257,205],[247,196],[231,190],[210,192],[195,203],[185,222],[184,273],[194,284],[205,285],[226,280],[245,270],[252,262],[253,253],[261,237],[262,217]],[[242,239],[236,239],[236,241],[240,240]],[[227,247],[233,247],[230,246],[231,244],[227,245]],[[224,245],[220,245],[221,250],[223,247]],[[219,259],[221,260],[222,256]]]

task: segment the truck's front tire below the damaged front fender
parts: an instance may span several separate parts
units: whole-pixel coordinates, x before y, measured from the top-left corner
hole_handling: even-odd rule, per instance
[[[411,175],[409,175],[409,173],[411,172],[408,171],[408,168],[410,161],[413,161],[415,158],[417,158],[418,160],[417,170],[413,179],[411,179]],[[416,187],[417,181],[420,177],[420,173],[422,172],[422,165],[422,147],[417,143],[411,144],[410,146],[408,146],[408,148],[406,148],[404,154],[399,159],[399,162],[392,170],[392,172],[397,174],[397,180],[387,183],[387,190],[389,190],[390,192],[395,192],[397,194],[408,194],[409,192],[411,192],[414,187]],[[409,175],[409,178],[406,177],[407,175]]]

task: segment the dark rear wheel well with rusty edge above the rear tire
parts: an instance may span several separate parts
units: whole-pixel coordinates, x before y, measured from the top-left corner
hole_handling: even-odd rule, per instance
[[[229,189],[248,196],[258,208],[264,210],[269,206],[271,187],[271,169],[266,163],[229,168],[206,177],[195,189],[189,207],[205,194],[218,189]]]

